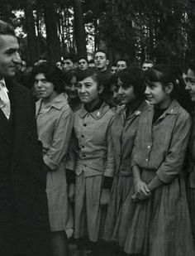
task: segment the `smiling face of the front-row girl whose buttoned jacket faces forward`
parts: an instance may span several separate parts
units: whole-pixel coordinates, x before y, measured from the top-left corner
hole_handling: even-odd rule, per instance
[[[102,89],[98,89],[98,82],[93,80],[93,77],[87,77],[77,84],[78,96],[83,104],[90,104],[98,99]]]

